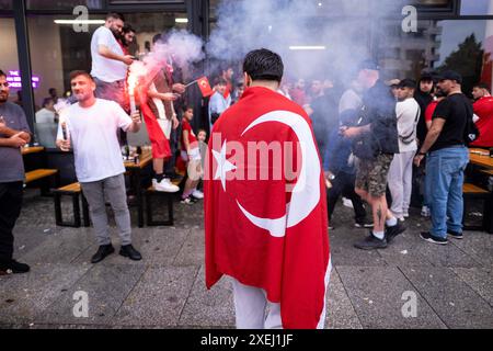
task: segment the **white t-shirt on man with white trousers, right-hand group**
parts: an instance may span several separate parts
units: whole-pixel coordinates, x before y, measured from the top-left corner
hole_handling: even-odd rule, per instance
[[[399,132],[399,151],[417,150],[416,125],[420,120],[420,104],[413,98],[395,104]]]

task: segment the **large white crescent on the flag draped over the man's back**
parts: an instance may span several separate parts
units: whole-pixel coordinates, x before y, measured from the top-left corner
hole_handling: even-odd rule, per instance
[[[286,228],[296,226],[310,215],[320,201],[320,160],[313,136],[307,121],[289,111],[273,111],[253,121],[241,134],[265,122],[278,122],[289,126],[296,134],[301,148],[301,170],[293,189],[291,202],[286,214],[279,218],[262,218],[252,215],[237,201],[245,217],[255,226],[268,230],[273,237],[284,237]],[[307,167],[310,165],[310,167]]]

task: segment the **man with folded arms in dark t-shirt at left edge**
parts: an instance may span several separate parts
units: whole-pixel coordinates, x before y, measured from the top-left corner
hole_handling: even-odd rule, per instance
[[[30,143],[31,134],[24,111],[8,99],[9,82],[0,70],[0,275],[30,271],[27,264],[12,259],[12,230],[22,207],[24,162],[21,147]]]

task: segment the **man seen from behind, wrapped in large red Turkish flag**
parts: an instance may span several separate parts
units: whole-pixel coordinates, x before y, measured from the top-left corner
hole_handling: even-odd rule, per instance
[[[276,92],[277,54],[249,53],[243,71],[249,88],[214,125],[206,157],[206,284],[232,278],[238,328],[323,328],[331,264],[311,123]]]

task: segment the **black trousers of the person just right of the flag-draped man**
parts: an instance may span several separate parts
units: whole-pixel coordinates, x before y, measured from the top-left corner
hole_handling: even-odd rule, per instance
[[[353,202],[354,207],[354,219],[357,223],[364,223],[366,219],[366,210],[363,205],[363,200],[354,191],[354,184],[356,181],[356,174],[351,174],[346,172],[339,172],[332,180],[332,188],[326,193],[326,204],[329,220],[332,218],[332,213],[334,212],[335,204],[339,197],[343,195]]]

